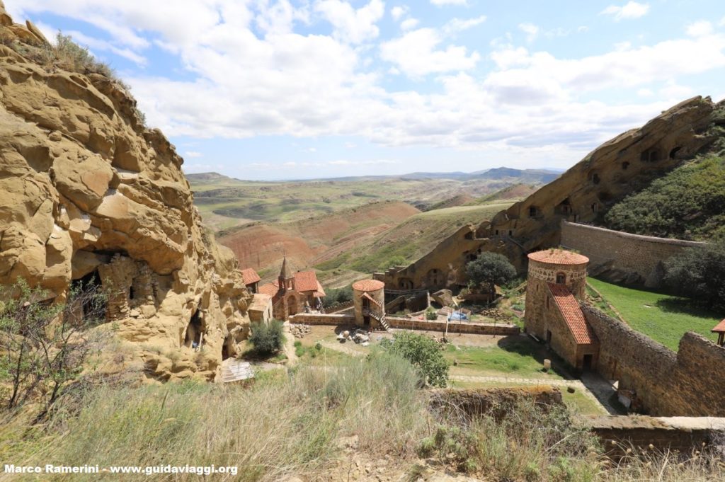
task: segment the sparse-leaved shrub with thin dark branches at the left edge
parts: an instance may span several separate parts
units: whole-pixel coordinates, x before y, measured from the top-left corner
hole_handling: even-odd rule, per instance
[[[42,288],[20,280],[1,290],[0,382],[7,383],[8,409],[44,401],[42,417],[78,378],[88,357],[100,352],[106,331],[107,294],[99,286],[72,286],[66,302],[54,302]]]

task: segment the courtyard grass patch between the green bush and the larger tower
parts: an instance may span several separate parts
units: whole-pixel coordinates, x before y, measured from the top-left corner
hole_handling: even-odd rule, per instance
[[[451,366],[453,375],[513,376],[520,378],[543,378],[561,380],[562,372],[552,365],[552,370],[543,371],[545,354],[542,346],[529,339],[505,341],[502,346],[447,346],[444,356],[457,365]]]

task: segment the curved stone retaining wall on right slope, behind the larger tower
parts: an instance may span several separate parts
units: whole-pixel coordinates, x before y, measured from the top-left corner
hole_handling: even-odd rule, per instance
[[[561,244],[589,257],[589,273],[610,281],[659,286],[663,262],[705,243],[639,236],[595,226],[561,223]]]

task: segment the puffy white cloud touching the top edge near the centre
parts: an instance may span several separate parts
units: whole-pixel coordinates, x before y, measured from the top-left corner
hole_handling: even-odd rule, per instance
[[[315,10],[334,25],[333,36],[350,43],[361,43],[380,33],[375,24],[385,14],[385,4],[381,0],[370,0],[365,7],[354,9],[347,1],[319,0]]]

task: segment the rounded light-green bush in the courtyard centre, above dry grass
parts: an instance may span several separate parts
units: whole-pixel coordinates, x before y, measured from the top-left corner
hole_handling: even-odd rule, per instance
[[[402,331],[395,333],[392,341],[383,344],[392,354],[409,361],[421,376],[423,383],[430,386],[446,386],[448,362],[439,345],[419,333]]]

